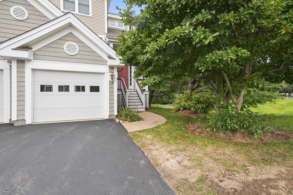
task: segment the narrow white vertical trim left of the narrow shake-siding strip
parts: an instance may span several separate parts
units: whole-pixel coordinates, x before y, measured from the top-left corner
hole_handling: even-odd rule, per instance
[[[17,119],[17,67],[16,59],[11,60],[11,121]]]

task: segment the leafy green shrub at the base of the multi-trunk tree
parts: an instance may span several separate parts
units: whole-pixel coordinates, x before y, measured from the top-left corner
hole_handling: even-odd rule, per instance
[[[214,127],[217,132],[226,133],[227,131],[241,132],[248,131],[256,139],[260,139],[265,132],[270,129],[263,123],[267,118],[251,112],[248,108],[241,108],[240,111],[234,111],[233,107],[221,108],[219,113],[209,116],[210,123],[214,121]]]

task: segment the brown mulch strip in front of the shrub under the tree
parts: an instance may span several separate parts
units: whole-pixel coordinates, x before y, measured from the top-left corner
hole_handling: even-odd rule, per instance
[[[200,126],[194,123],[190,123],[188,130],[191,133],[201,136],[207,136],[209,138],[217,138],[223,141],[229,142],[241,142],[241,143],[263,143],[263,142],[275,142],[275,141],[288,141],[293,140],[293,135],[288,132],[271,129],[270,135],[262,135],[260,140],[255,139],[254,136],[243,133],[211,133],[209,130],[202,129]]]

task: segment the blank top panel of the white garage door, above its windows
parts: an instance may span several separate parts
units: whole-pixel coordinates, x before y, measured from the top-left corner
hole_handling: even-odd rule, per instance
[[[86,80],[85,80],[86,78]],[[34,70],[35,82],[104,83],[104,74]]]

